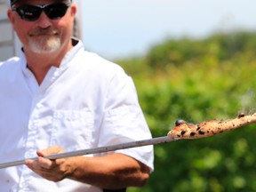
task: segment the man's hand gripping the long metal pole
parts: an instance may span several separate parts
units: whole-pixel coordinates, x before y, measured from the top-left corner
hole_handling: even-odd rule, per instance
[[[50,160],[44,156],[63,153],[64,150],[58,146],[52,146],[44,150],[36,151],[38,156],[37,160],[26,160],[25,164],[38,175],[46,180],[60,181],[63,180],[68,174],[67,159]]]

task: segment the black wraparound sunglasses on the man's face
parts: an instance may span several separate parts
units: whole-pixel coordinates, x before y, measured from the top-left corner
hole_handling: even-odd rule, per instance
[[[35,21],[38,20],[41,13],[44,12],[51,20],[62,18],[70,4],[53,3],[53,4],[22,4],[18,7],[12,7],[13,12],[17,12],[22,20]]]

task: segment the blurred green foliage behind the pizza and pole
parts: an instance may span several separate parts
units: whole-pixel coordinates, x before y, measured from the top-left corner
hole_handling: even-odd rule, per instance
[[[177,119],[200,123],[255,112],[256,33],[167,39],[145,57],[117,60],[136,84],[153,137]],[[155,146],[155,172],[129,192],[256,191],[255,124]]]

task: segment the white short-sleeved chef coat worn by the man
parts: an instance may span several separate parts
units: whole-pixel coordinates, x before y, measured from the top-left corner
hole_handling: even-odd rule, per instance
[[[151,138],[131,77],[85,52],[80,41],[40,86],[26,63],[21,52],[0,65],[0,163],[35,157],[37,149],[52,145],[73,151]],[[118,152],[153,170],[152,146]],[[0,191],[50,189],[101,191],[75,180],[44,180],[26,165],[0,170]]]

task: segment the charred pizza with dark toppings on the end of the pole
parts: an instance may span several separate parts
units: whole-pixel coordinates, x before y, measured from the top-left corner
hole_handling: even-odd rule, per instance
[[[211,120],[200,124],[188,124],[184,120],[177,120],[175,122],[175,126],[167,135],[171,139],[193,140],[210,137],[212,135],[234,130],[252,123],[256,123],[256,113],[248,116],[241,113],[234,119]]]

